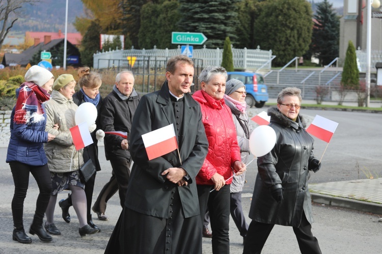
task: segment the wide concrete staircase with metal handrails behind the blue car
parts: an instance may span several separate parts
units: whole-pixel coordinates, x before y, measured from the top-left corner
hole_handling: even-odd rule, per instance
[[[302,69],[302,70],[283,70],[279,73],[275,70],[268,74],[265,77],[265,83],[268,87],[269,98],[277,98],[279,92],[288,86],[295,86],[301,89],[302,97],[305,100],[314,100],[316,99],[316,87],[320,84],[321,86],[328,86],[330,92],[328,96],[324,98],[324,101],[331,101],[331,91],[337,90],[338,85],[341,81],[342,70],[337,71],[328,71],[325,70],[321,72],[322,68],[318,69]],[[312,72],[315,72],[312,74]],[[311,75],[312,74],[312,75]],[[305,78],[311,75],[306,81],[305,84],[301,83]],[[338,75],[334,80],[330,83],[326,84],[333,77]],[[278,82],[279,79],[279,82]]]

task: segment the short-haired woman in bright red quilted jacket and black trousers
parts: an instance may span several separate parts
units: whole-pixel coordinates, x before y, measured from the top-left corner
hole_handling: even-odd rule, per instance
[[[208,139],[208,154],[196,177],[201,223],[208,206],[212,229],[212,252],[229,253],[230,183],[233,172],[245,171],[241,163],[235,124],[223,99],[227,72],[223,67],[206,67],[200,74],[199,102]]]

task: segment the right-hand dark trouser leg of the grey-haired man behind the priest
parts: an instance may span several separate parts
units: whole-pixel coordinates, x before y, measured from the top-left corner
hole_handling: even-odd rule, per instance
[[[110,164],[117,179],[119,199],[123,208],[130,178],[130,162],[126,158],[118,157],[112,158]]]

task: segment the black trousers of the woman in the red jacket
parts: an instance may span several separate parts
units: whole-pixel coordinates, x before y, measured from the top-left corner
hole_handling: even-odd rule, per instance
[[[200,221],[203,227],[204,215],[208,207],[212,229],[212,253],[229,253],[229,222],[230,222],[230,184],[224,185],[219,192],[212,185],[197,185]]]

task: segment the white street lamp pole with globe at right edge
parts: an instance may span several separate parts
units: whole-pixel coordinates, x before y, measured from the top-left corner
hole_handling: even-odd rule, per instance
[[[379,0],[370,0],[367,7],[367,31],[366,31],[366,107],[370,106],[370,66],[371,66],[371,7],[379,8]]]

